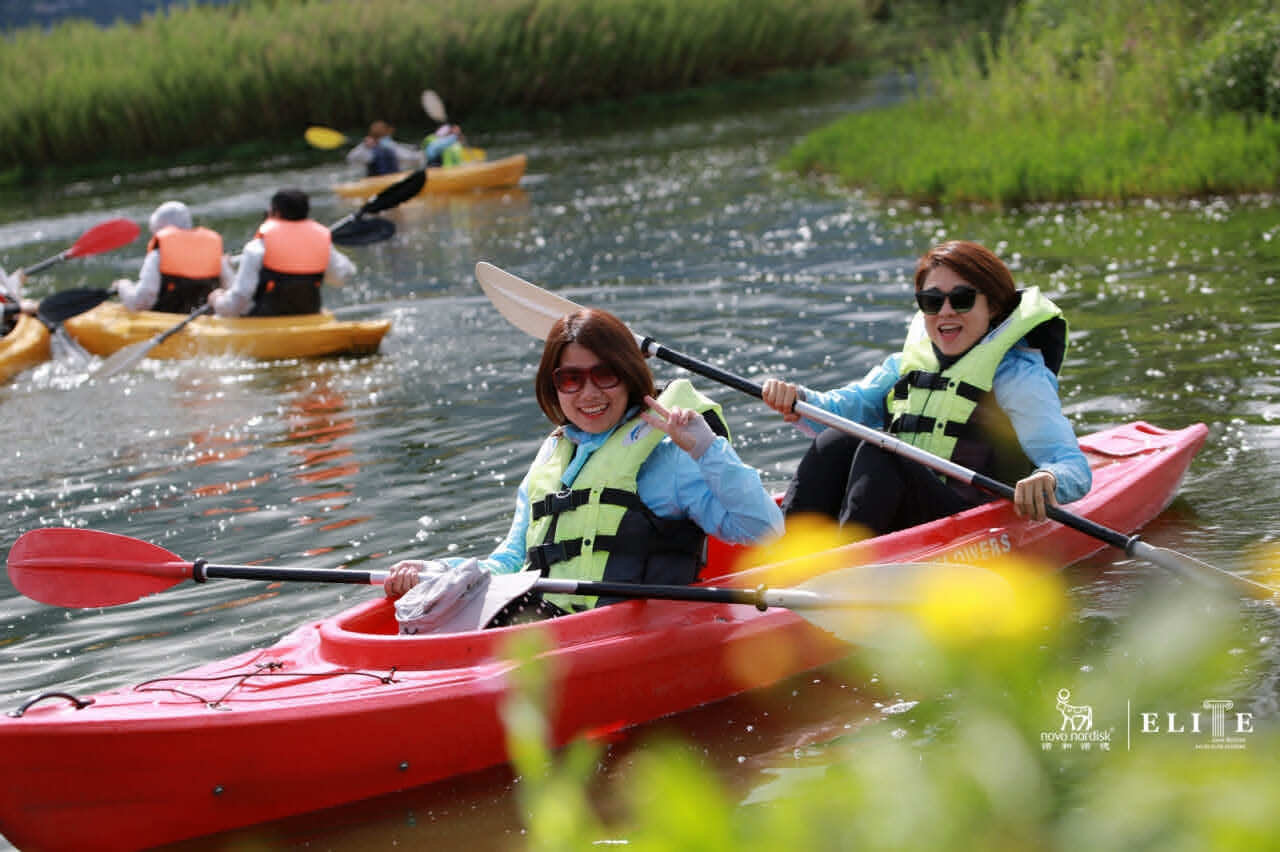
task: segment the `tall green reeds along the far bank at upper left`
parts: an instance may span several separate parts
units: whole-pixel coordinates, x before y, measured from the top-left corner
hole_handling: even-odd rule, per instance
[[[847,60],[860,0],[251,0],[0,41],[0,174],[137,161],[308,124],[422,127]]]

